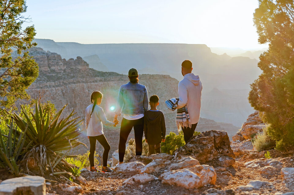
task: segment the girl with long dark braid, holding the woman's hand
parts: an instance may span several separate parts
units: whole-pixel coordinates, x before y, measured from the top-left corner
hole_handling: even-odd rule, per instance
[[[94,91],[91,95],[92,104],[86,108],[86,117],[85,124],[87,130],[87,136],[90,141],[90,171],[99,171],[94,165],[94,153],[96,150],[96,140],[103,146],[103,168],[104,172],[111,172],[112,170],[107,167],[108,153],[110,151],[110,145],[107,142],[107,139],[103,133],[103,124],[106,126],[113,126],[119,123],[119,121],[115,121],[115,123],[107,120],[104,110],[98,106],[101,104],[103,98],[103,94],[100,91]]]

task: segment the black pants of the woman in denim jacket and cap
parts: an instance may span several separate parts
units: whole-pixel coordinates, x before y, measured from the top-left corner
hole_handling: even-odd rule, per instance
[[[123,118],[119,133],[119,162],[123,162],[126,152],[126,141],[134,127],[136,155],[142,154],[142,138],[144,133],[144,117],[137,120]]]

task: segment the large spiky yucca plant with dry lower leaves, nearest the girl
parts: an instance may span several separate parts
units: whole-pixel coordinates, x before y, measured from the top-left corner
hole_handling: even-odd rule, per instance
[[[32,171],[39,168],[42,175],[46,171],[53,175],[69,173],[73,167],[64,160],[64,157],[72,148],[83,144],[77,140],[82,133],[79,129],[82,120],[78,121],[79,117],[72,119],[74,111],[66,118],[60,119],[66,105],[51,117],[51,110],[43,111],[37,99],[35,104],[35,114],[30,113],[32,119],[24,106],[21,106],[24,118],[16,113],[13,114],[15,123],[21,131],[25,132],[26,139],[32,141],[23,160],[26,162],[27,170]],[[25,131],[26,128],[27,131]]]

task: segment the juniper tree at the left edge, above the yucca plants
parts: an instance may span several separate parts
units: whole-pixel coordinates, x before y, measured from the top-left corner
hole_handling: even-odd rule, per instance
[[[18,99],[28,99],[25,89],[38,77],[38,64],[23,52],[36,43],[34,26],[22,29],[29,22],[22,13],[26,12],[25,0],[0,1],[0,105],[1,111],[11,109]],[[12,58],[13,50],[20,57]],[[1,114],[1,113],[0,113]]]

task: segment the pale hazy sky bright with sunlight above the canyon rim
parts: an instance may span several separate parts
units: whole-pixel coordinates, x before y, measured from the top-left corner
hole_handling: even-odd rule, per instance
[[[27,0],[36,38],[79,43],[189,43],[264,48],[258,0]]]

